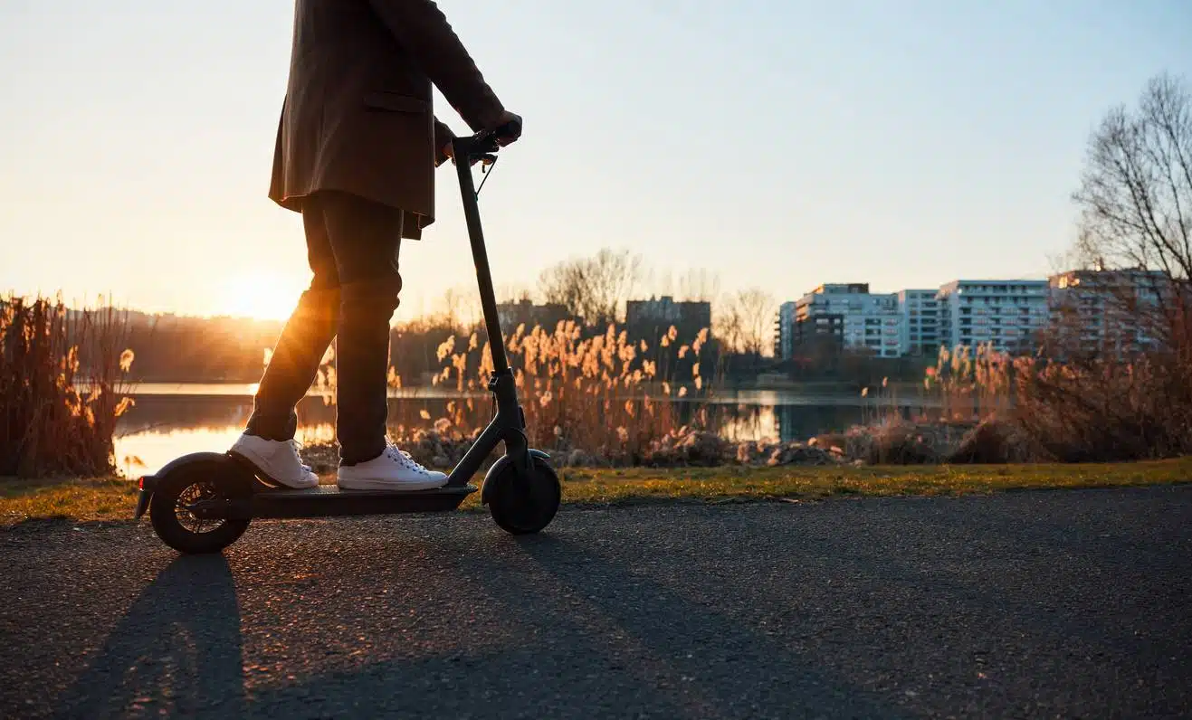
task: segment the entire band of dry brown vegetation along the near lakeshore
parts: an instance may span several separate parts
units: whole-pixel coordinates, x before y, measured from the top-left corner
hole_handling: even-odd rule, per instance
[[[107,477],[112,430],[132,402],[118,311],[67,310],[61,300],[10,298],[0,306],[7,412],[0,476]],[[715,408],[696,404],[721,386],[709,328],[683,337],[672,325],[652,340],[615,323],[576,321],[553,330],[519,325],[507,339],[533,447],[564,467],[712,467],[1106,463],[1192,453],[1192,383],[1179,354],[1060,362],[1010,356],[992,346],[940,349],[914,397],[882,378],[857,395],[862,423],[807,441],[733,441],[718,435]],[[488,342],[473,331],[436,348],[440,390],[483,392],[492,372]],[[268,359],[266,358],[266,362]],[[334,346],[315,392],[334,404]],[[710,362],[710,365],[709,365]],[[390,385],[403,387],[396,368]],[[675,399],[694,401],[679,408]],[[909,418],[907,401],[931,415]],[[460,397],[432,416],[393,403],[391,436],[420,461],[454,465],[489,418],[488,398]],[[334,470],[334,446],[305,449]]]

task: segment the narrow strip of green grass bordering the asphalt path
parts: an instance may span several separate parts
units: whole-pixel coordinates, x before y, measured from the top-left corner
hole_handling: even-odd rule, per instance
[[[1192,479],[1192,458],[1111,465],[566,468],[560,474],[563,501],[570,504],[774,501],[1161,485]],[[479,508],[477,495],[465,509]],[[128,520],[135,505],[136,485],[129,480],[0,478],[0,525],[50,517]]]

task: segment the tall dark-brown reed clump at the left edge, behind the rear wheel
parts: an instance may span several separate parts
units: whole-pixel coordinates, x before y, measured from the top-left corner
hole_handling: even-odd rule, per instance
[[[126,316],[61,298],[0,299],[0,476],[106,476],[131,405]]]

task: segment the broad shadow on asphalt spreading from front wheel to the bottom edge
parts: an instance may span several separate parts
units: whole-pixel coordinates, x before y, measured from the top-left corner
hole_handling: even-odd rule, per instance
[[[551,535],[457,554],[509,629],[501,646],[434,651],[254,691],[268,716],[898,718],[901,708],[755,627]],[[411,640],[417,641],[416,638]],[[479,713],[479,715],[478,715]]]

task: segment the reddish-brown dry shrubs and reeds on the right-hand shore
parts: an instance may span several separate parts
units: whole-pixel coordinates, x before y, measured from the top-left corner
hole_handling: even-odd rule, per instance
[[[850,433],[870,463],[1066,463],[1192,453],[1192,367],[1178,354],[1058,360],[942,348],[924,377],[930,418],[893,406]]]

